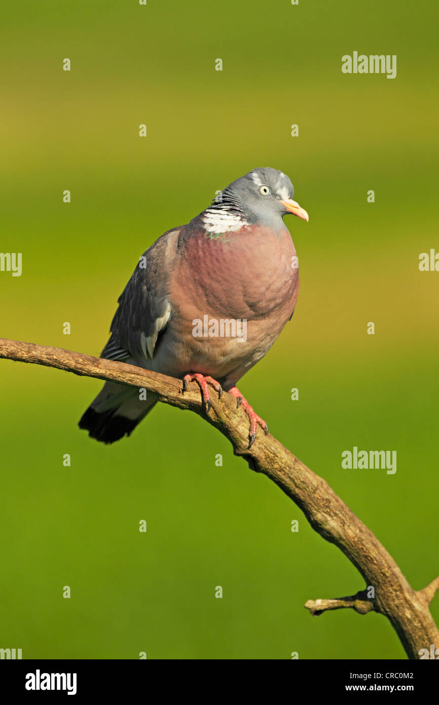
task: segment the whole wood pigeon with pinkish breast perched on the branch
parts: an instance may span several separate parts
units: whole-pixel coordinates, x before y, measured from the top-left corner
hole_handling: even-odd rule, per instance
[[[190,223],[163,233],[139,257],[118,299],[106,360],[119,360],[237,399],[249,419],[249,445],[268,426],[237,388],[295,311],[297,254],[283,216],[309,221],[293,200],[290,178],[254,168],[216,192]],[[156,401],[107,381],[79,427],[103,443],[130,436]]]

